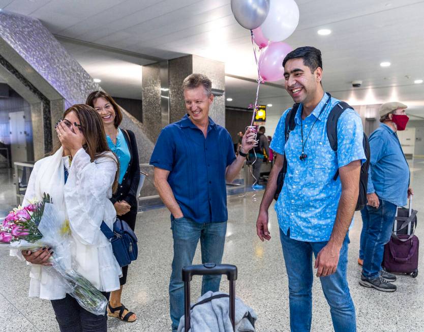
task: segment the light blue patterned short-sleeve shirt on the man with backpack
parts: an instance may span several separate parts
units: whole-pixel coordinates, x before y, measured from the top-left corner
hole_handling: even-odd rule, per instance
[[[328,95],[324,94],[312,113],[303,120],[304,141],[325,105]],[[340,177],[334,180],[338,168],[355,160],[365,162],[362,147],[364,135],[360,116],[353,110],[345,110],[337,125],[338,151],[331,149],[327,138],[327,118],[330,110],[339,100],[331,98],[305,144],[304,161],[299,159],[302,152],[300,134],[300,104],[296,117],[296,127],[290,132],[285,144],[284,126],[288,113],[286,110],[280,118],[270,148],[287,159],[287,174],[284,186],[275,204],[278,223],[290,238],[305,242],[328,241],[336,220],[342,186]]]

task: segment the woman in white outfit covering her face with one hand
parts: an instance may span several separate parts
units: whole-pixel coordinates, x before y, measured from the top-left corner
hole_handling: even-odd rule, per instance
[[[109,298],[109,292],[119,289],[122,271],[100,225],[105,221],[112,228],[116,218],[109,198],[117,187],[118,164],[102,119],[92,107],[68,108],[55,129],[61,146],[34,165],[23,205],[40,200],[44,193],[50,195],[69,220],[74,269]],[[60,279],[47,272],[44,265],[50,264],[51,248],[19,254],[32,264],[29,296],[51,300],[60,331],[107,330],[106,313],[97,316],[82,309],[66,294]]]

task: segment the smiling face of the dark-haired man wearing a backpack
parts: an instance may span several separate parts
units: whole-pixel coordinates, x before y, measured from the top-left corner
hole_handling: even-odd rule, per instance
[[[307,104],[316,98],[322,78],[322,69],[313,73],[304,65],[303,58],[294,58],[284,66],[284,87],[295,103]]]

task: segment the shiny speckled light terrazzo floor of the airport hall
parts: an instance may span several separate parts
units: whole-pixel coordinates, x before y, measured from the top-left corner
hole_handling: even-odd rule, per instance
[[[424,160],[411,162],[411,184],[415,190],[414,207],[424,212]],[[0,173],[0,212],[13,200],[9,176]],[[9,182],[8,182],[9,181]],[[269,209],[271,240],[261,243],[256,236],[255,222],[262,192],[246,197],[228,197],[228,228],[224,263],[238,267],[236,295],[258,314],[257,331],[289,331],[288,286],[278,223],[274,210]],[[423,215],[424,216],[424,215]],[[418,213],[416,235],[424,239],[424,220]],[[424,255],[420,250],[418,277],[398,276],[398,291],[384,293],[359,286],[357,265],[360,214],[355,213],[350,232],[348,281],[356,307],[357,330],[360,332],[424,332]],[[138,315],[134,323],[109,318],[109,331],[169,331],[168,282],[172,260],[172,237],[166,208],[141,212],[137,218],[139,259],[129,268],[123,303]],[[200,263],[199,248],[194,263]],[[28,267],[0,252],[0,331],[58,331],[49,301],[28,298]],[[228,289],[223,278],[221,288]],[[192,282],[192,300],[200,295],[200,278]],[[318,279],[313,287],[312,331],[332,331],[329,307]]]

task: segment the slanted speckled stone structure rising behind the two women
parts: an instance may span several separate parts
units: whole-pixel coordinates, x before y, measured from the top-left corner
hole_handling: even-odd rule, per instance
[[[84,103],[89,93],[101,87],[48,29],[31,17],[0,11],[0,55],[11,64],[15,76],[21,75],[26,80],[24,85],[28,89],[32,84],[45,97],[42,99],[36,94],[43,105],[43,123],[33,123],[33,126],[43,126],[44,151],[48,152],[54,143],[52,124],[55,120],[66,108]],[[153,144],[143,133],[143,126],[124,112],[125,126],[137,137],[140,162],[147,162]],[[40,151],[35,151],[35,155],[40,156]]]

